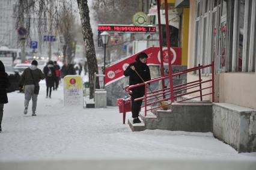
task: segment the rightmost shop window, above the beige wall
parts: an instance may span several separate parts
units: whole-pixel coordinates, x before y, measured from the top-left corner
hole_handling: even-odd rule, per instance
[[[237,0],[238,13],[234,17],[234,23],[237,20],[237,26],[234,26],[234,32],[237,34],[238,43],[233,43],[233,48],[238,50],[233,52],[232,71],[251,72],[255,71],[255,8],[254,0]],[[234,14],[235,16],[235,14]],[[235,45],[235,46],[234,46]]]

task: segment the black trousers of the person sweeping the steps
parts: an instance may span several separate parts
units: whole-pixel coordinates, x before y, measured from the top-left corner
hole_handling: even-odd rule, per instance
[[[130,96],[132,96],[132,117],[139,117],[139,111],[141,111],[142,100],[138,100],[136,102],[134,100],[139,97],[143,97],[144,93],[142,93],[141,91],[133,91],[133,93],[130,94]]]

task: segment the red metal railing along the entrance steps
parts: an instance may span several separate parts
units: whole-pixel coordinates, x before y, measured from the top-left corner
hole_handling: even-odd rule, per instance
[[[212,79],[202,80],[201,79],[201,70],[203,68],[207,68],[207,67],[212,67]],[[173,87],[171,86],[171,87],[161,88],[161,89],[155,90],[155,91],[150,91],[150,92],[147,91],[147,84],[149,84],[149,83],[164,81],[165,79],[169,79],[169,81],[171,81],[171,83],[172,83],[172,77],[180,76],[182,74],[187,74],[187,73],[194,72],[194,71],[198,71],[198,80],[183,83],[183,84],[180,84],[180,85],[175,85]],[[212,82],[212,86],[202,88],[202,84],[207,83],[207,82]],[[138,100],[143,100],[144,101],[144,106],[141,106],[141,108],[144,108],[145,116],[147,115],[147,111],[151,111],[153,109],[157,109],[157,108],[161,108],[163,106],[171,105],[174,101],[175,102],[184,102],[186,100],[191,100],[191,99],[195,99],[195,98],[198,98],[198,97],[200,97],[200,100],[202,101],[203,96],[212,95],[212,102],[214,102],[214,61],[212,62],[212,64],[209,64],[209,65],[200,65],[199,64],[198,67],[189,68],[189,69],[183,70],[183,71],[178,71],[176,73],[173,73],[171,76],[167,75],[167,76],[155,77],[154,79],[151,79],[147,82],[128,86],[128,87],[125,88],[125,90],[128,93],[132,94],[132,89],[133,88],[139,87],[139,86],[142,86],[142,85],[145,85],[145,96],[140,97],[138,99],[135,99],[135,102],[138,101]],[[212,89],[212,91],[210,93],[203,94],[204,90],[207,90],[207,89],[210,89],[210,88]],[[190,91],[187,92],[187,90],[190,90]],[[186,92],[184,92],[184,91],[186,91]],[[178,97],[186,96],[188,94],[193,94],[193,93],[199,93],[200,95],[195,96],[195,97],[191,97],[191,98],[188,98],[188,99],[181,99],[181,100],[178,99]],[[166,96],[169,96],[169,97],[166,97]],[[164,105],[161,103],[163,101],[168,101],[168,100],[170,101],[169,103],[164,103]],[[162,105],[153,106],[157,103],[160,103]],[[147,106],[151,106],[151,108],[148,109]]]

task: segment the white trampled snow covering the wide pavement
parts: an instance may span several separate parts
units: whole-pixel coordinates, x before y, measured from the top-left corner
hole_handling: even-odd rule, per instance
[[[46,99],[41,82],[37,117],[23,115],[24,94],[8,94],[0,133],[0,162],[59,159],[211,159],[255,161],[256,153],[237,153],[212,133],[145,130],[122,124],[117,107],[63,106],[62,87]],[[127,118],[131,115],[128,114]],[[1,168],[0,168],[1,169]]]

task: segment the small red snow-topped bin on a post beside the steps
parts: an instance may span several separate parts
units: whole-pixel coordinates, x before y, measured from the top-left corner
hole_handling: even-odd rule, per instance
[[[132,101],[130,98],[117,99],[117,105],[119,106],[119,112],[123,113],[123,124],[126,124],[126,112],[132,111]]]

